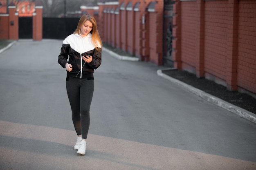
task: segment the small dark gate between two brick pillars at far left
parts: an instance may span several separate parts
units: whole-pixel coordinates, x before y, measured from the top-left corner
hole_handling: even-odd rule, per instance
[[[33,19],[32,17],[19,17],[19,38],[33,38]]]

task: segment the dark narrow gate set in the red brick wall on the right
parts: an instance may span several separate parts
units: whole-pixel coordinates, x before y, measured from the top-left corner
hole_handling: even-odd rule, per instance
[[[164,18],[163,18],[163,64],[173,67],[173,4],[171,0],[164,0]]]

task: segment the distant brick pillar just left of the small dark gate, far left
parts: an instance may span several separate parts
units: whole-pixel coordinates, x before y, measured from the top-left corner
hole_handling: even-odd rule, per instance
[[[9,39],[19,39],[19,18],[16,12],[16,6],[14,4],[9,5]]]

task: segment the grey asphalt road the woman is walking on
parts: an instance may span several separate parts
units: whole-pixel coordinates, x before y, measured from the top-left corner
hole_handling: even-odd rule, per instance
[[[86,155],[58,64],[61,40],[0,53],[0,170],[256,170],[256,124],[103,51]]]

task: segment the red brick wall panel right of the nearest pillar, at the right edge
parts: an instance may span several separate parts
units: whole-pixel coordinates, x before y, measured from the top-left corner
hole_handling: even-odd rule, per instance
[[[237,85],[256,93],[256,1],[240,0]]]

